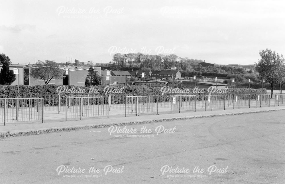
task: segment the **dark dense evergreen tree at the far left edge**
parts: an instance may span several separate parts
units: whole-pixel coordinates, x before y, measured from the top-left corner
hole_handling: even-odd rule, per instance
[[[14,82],[15,80],[16,80],[16,75],[14,75],[14,71],[10,70],[9,62],[5,61],[0,71],[0,84],[11,85],[12,82]]]

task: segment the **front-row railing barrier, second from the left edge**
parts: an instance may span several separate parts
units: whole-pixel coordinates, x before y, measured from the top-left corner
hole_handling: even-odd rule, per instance
[[[109,97],[67,97],[65,120],[83,117],[107,116],[109,118]]]

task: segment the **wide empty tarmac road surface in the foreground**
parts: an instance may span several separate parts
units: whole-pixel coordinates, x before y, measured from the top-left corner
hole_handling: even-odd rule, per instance
[[[274,111],[8,137],[0,140],[0,183],[285,183],[284,117]]]

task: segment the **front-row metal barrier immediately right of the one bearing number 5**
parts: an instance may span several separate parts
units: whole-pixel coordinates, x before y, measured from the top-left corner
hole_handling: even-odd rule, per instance
[[[205,111],[207,109],[224,109],[226,107],[227,95],[206,95],[205,96]]]

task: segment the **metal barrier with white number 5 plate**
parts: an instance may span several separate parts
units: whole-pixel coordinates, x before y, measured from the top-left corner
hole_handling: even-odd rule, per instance
[[[178,111],[196,112],[196,95],[172,95],[170,100],[170,113]]]

